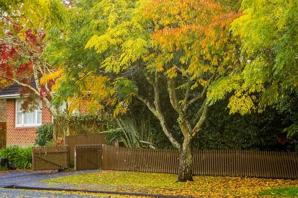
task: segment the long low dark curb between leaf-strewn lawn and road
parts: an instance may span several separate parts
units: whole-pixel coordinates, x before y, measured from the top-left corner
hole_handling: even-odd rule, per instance
[[[183,196],[169,196],[169,195],[156,195],[156,194],[144,194],[144,193],[126,193],[115,191],[92,191],[81,189],[64,189],[64,188],[43,188],[43,187],[27,187],[27,186],[5,186],[5,189],[23,189],[23,190],[40,190],[40,191],[67,191],[67,192],[85,192],[85,193],[100,193],[100,194],[112,194],[112,195],[130,195],[130,196],[146,196],[154,198],[191,198]]]

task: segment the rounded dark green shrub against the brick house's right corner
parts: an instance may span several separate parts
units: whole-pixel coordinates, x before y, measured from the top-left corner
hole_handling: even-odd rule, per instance
[[[52,123],[41,125],[40,127],[38,127],[35,133],[37,133],[35,145],[46,146],[47,143],[53,138]]]

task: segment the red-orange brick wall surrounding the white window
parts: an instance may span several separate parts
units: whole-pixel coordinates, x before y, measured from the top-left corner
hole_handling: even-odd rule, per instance
[[[42,106],[45,103],[42,102]],[[35,142],[37,127],[15,127],[15,99],[6,101],[6,144],[21,145]],[[52,122],[52,115],[47,108],[42,109],[42,124]]]

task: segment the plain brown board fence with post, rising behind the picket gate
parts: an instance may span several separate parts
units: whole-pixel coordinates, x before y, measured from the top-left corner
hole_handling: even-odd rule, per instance
[[[70,154],[69,161],[72,161],[74,157],[75,145],[94,145],[94,144],[105,144],[106,134],[89,134],[89,135],[78,135],[78,136],[65,136],[64,145],[69,146]]]

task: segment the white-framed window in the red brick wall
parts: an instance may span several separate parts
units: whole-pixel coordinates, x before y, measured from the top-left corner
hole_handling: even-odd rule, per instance
[[[33,112],[24,113],[21,110],[21,104],[23,103],[23,99],[15,100],[15,126],[40,126],[41,125],[41,109],[38,108]],[[37,100],[39,107],[42,106],[41,100]]]

